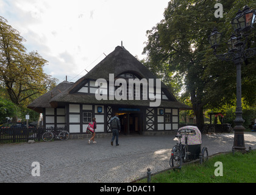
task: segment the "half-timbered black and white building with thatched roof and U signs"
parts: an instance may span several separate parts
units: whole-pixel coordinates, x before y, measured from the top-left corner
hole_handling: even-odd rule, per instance
[[[73,134],[85,133],[93,117],[97,133],[111,132],[108,121],[118,113],[121,132],[143,135],[177,130],[180,110],[190,109],[123,46],[77,82],[59,83],[28,108],[43,113],[44,127],[66,127]]]

